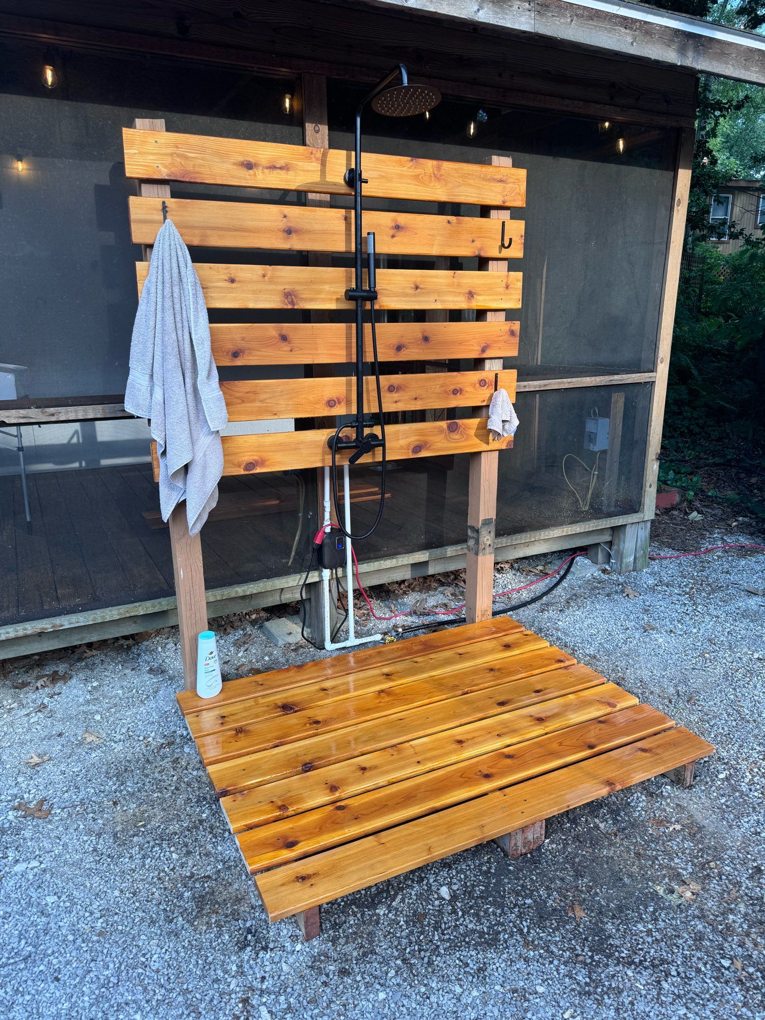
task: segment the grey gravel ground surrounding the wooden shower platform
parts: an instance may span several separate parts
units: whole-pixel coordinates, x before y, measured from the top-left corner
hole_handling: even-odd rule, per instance
[[[715,744],[692,789],[653,779],[552,819],[514,864],[489,844],[348,896],[308,944],[267,923],[216,807],[175,705],[175,631],[8,664],[0,1016],[765,1017],[765,598],[747,584],[765,589],[761,554],[577,570],[516,614]],[[230,620],[226,675],[315,657],[260,620]]]

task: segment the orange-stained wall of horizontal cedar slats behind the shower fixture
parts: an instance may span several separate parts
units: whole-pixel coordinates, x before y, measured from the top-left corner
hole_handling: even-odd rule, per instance
[[[148,126],[148,125],[147,125]],[[220,202],[172,199],[168,181],[220,186],[298,191],[308,201],[322,195],[349,195],[343,181],[351,164],[347,152],[200,138],[162,130],[123,132],[128,176],[161,182],[158,197],[144,194],[131,200],[134,242],[145,246],[156,240],[162,223],[162,201],[187,244],[193,247],[305,251],[320,264],[284,266],[269,264],[195,264],[205,301],[210,308],[262,309],[277,317],[284,309],[341,310],[353,304],[344,292],[352,286],[352,270],[333,267],[329,253],[350,253],[353,214],[326,204],[276,206],[254,202]],[[523,253],[523,227],[510,218],[509,209],[525,201],[525,171],[510,160],[495,157],[491,164],[455,163],[401,156],[364,155],[365,193],[372,197],[424,200],[478,206],[480,216],[429,215],[408,212],[370,212],[365,226],[379,238],[380,253],[435,257],[435,269],[386,269],[377,273],[377,307],[425,311],[437,321],[380,323],[381,361],[417,361],[470,357],[477,370],[386,375],[381,379],[388,411],[416,411],[472,407],[474,417],[443,421],[407,422],[387,426],[387,456],[392,460],[470,453],[486,461],[483,474],[473,479],[471,517],[475,507],[494,515],[498,451],[512,446],[512,439],[492,442],[487,429],[487,408],[495,386],[515,396],[515,371],[502,367],[502,358],[518,350],[518,323],[507,322],[506,312],[521,301],[521,273],[508,271],[507,259]],[[156,195],[156,193],[155,193]],[[494,210],[494,211],[492,211]],[[504,235],[503,235],[504,223]],[[504,244],[503,244],[504,241]],[[323,253],[323,254],[322,254]],[[449,256],[477,257],[477,271],[444,268]],[[448,264],[448,262],[447,262]],[[139,292],[149,263],[137,263]],[[472,310],[474,321],[450,322],[448,310]],[[354,360],[354,336],[347,323],[310,321],[217,324],[211,327],[213,357],[223,365],[328,365]],[[366,347],[369,338],[365,337]],[[371,353],[371,352],[369,352]],[[355,410],[354,380],[348,375],[299,379],[224,381],[222,391],[233,421],[276,418],[318,418],[329,421]],[[369,406],[375,406],[371,377],[365,381]],[[330,463],[327,439],[334,428],[308,428],[287,432],[255,432],[223,439],[223,473],[247,474],[320,467]],[[380,450],[365,463],[380,460]],[[156,449],[152,451],[155,476]],[[349,454],[339,455],[345,463]],[[494,486],[491,477],[494,476]],[[477,495],[476,495],[477,486]],[[476,502],[477,500],[477,502]],[[490,506],[490,504],[492,504]],[[173,536],[171,534],[171,538]],[[173,538],[176,543],[177,537]],[[486,588],[491,548],[481,550],[479,576],[470,580],[468,613],[473,618],[491,614],[491,584]],[[201,552],[199,554],[201,569]],[[491,571],[490,571],[491,572]],[[185,580],[176,578],[176,589]],[[478,591],[481,589],[481,591]],[[178,590],[178,605],[181,606]],[[196,596],[204,600],[203,583]],[[477,607],[477,610],[476,610]],[[488,608],[487,608],[488,607]],[[475,613],[477,612],[477,616]],[[187,686],[194,683],[194,656],[184,660]]]

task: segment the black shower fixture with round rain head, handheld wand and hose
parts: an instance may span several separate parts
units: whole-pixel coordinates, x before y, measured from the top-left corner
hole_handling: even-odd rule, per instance
[[[396,83],[396,84],[394,84]],[[417,113],[424,113],[431,110],[441,102],[441,93],[428,85],[415,85],[409,82],[406,67],[399,64],[390,74],[387,74],[378,82],[372,91],[368,93],[358,105],[356,110],[356,145],[354,165],[349,167],[345,173],[345,183],[349,188],[353,188],[354,207],[354,255],[355,255],[355,280],[354,286],[345,292],[346,301],[356,302],[356,420],[354,422],[355,435],[353,439],[341,440],[340,434],[348,425],[339,425],[335,435],[328,440],[328,446],[333,454],[333,497],[335,500],[335,511],[337,520],[340,522],[343,517],[340,513],[340,500],[338,496],[338,450],[353,450],[349,458],[349,463],[355,464],[357,460],[367,453],[371,453],[376,447],[382,450],[382,468],[380,472],[380,495],[379,507],[374,523],[364,534],[346,534],[350,539],[366,539],[379,523],[382,516],[382,508],[386,502],[386,426],[382,420],[382,395],[379,386],[379,364],[377,360],[377,337],[374,323],[374,302],[377,300],[375,290],[375,260],[374,260],[374,234],[366,236],[366,263],[367,263],[367,286],[364,287],[363,273],[363,223],[361,209],[362,185],[368,184],[364,178],[361,167],[361,114],[367,103],[370,103],[373,110],[387,117],[409,117]],[[365,429],[374,426],[371,419],[364,417],[364,302],[369,303],[369,324],[372,335],[372,356],[374,364],[374,377],[377,390],[377,416],[379,418],[379,436],[374,432],[365,434]],[[341,530],[345,528],[341,525]]]

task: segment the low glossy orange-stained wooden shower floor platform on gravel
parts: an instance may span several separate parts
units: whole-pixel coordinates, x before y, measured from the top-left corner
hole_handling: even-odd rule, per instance
[[[178,696],[271,921],[545,819],[711,745],[509,617]],[[508,834],[509,837],[508,837]]]

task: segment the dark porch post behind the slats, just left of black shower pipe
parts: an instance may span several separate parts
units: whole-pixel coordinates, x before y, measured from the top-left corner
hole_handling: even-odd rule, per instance
[[[303,141],[313,149],[329,148],[329,125],[326,108],[326,79],[323,74],[303,74],[301,81],[301,112],[303,116]],[[328,206],[329,196],[323,192],[308,192],[305,197],[306,205]],[[332,257],[324,252],[309,252],[308,265],[329,266]],[[311,322],[328,322],[330,315],[325,311],[313,311],[308,313]],[[312,375],[333,375],[335,370],[330,365],[313,365]],[[309,420],[307,425],[312,428],[321,428],[322,425],[334,428],[335,418],[316,418]],[[319,467],[312,472],[314,481],[309,484],[307,500],[310,500],[316,508],[316,526],[311,524],[310,530],[314,533],[324,519],[324,469]],[[332,519],[335,519],[335,512],[330,510]],[[309,517],[309,521],[311,518]],[[314,581],[306,588],[306,599],[308,603],[308,630],[311,638],[317,644],[321,641],[324,632],[324,593],[320,581]],[[335,581],[329,581],[329,629],[335,627],[338,618],[338,600]]]

